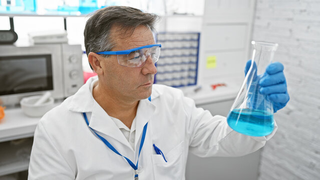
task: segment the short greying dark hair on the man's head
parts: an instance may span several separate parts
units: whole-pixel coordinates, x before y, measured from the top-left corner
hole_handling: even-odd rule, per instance
[[[145,13],[134,7],[108,6],[101,8],[93,12],[86,23],[84,30],[86,53],[88,55],[89,52],[109,51],[116,46],[110,32],[113,25],[119,25],[122,34],[130,36],[139,25],[144,25],[155,31],[154,25],[159,18],[156,14]],[[131,33],[127,33],[128,30]]]

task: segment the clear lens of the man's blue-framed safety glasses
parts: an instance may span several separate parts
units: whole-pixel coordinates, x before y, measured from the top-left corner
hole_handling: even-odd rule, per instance
[[[160,47],[153,46],[148,48],[142,48],[136,51],[132,51],[129,54],[118,54],[118,62],[120,65],[128,67],[141,67],[146,63],[146,60],[150,56],[152,62],[156,63],[160,56]]]

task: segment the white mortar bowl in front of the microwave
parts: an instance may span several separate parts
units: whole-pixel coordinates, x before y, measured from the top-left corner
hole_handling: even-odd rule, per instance
[[[31,117],[41,117],[46,112],[54,107],[54,98],[49,97],[44,103],[35,105],[36,101],[42,97],[42,95],[35,95],[30,97],[24,97],[20,101],[22,111]]]

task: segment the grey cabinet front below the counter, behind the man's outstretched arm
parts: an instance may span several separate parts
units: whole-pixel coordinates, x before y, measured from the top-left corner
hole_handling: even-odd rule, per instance
[[[233,103],[232,100],[197,105],[209,110],[212,114],[226,116]],[[192,153],[188,155],[186,179],[201,180],[256,180],[260,150],[241,157],[198,157]]]

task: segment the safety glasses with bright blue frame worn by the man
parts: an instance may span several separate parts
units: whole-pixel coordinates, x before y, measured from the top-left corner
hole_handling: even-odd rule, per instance
[[[161,44],[151,44],[128,50],[97,52],[97,54],[115,54],[118,57],[120,65],[127,67],[142,67],[146,63],[149,55],[151,56],[153,63],[158,61],[160,47]]]

